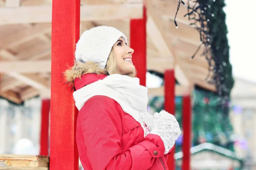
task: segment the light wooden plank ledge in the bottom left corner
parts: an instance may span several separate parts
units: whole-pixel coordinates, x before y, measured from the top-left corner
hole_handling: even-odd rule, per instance
[[[0,154],[0,170],[49,170],[49,156]]]

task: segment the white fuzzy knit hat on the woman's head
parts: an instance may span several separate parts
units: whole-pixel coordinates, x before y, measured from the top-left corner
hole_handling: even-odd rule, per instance
[[[76,43],[76,60],[99,63],[101,68],[105,68],[110,51],[120,37],[127,42],[125,34],[109,26],[97,26],[84,31]]]

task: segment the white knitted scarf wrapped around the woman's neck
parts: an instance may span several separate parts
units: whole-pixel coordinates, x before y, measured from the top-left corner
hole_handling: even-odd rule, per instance
[[[153,117],[147,112],[148,89],[140,85],[138,78],[112,74],[84,86],[73,93],[78,110],[80,111],[88,99],[97,95],[107,96],[118,102],[125,113],[140,123],[144,136],[147,135],[152,127]]]

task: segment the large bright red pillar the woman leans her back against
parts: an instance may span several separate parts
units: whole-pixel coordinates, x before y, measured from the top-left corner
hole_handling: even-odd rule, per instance
[[[52,0],[52,72],[50,114],[51,170],[78,170],[77,110],[63,72],[73,66],[79,40],[80,0]]]

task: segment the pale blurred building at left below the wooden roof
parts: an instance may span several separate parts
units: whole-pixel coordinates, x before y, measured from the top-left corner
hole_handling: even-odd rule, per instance
[[[16,144],[21,149],[22,141],[20,139],[31,141],[30,147],[33,147],[33,150],[30,150],[29,153],[38,154],[41,99],[33,98],[24,102],[23,105],[15,105],[5,99],[0,99],[0,129],[0,154],[14,154]]]

